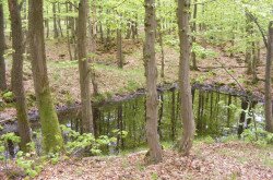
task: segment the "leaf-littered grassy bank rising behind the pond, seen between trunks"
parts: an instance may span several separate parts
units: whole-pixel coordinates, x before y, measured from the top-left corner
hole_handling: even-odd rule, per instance
[[[157,47],[157,49],[159,49]],[[263,81],[252,84],[252,76],[247,75],[247,68],[244,63],[244,55],[236,55],[230,58],[219,48],[211,49],[218,53],[216,58],[198,59],[200,71],[191,71],[191,83],[228,85],[229,87],[240,89],[239,85],[234,81],[236,79],[240,85],[252,94],[262,96]],[[115,95],[126,95],[138,88],[143,88],[145,85],[143,59],[142,59],[142,43],[124,40],[124,68],[123,70],[117,67],[116,47],[114,45],[110,50],[104,50],[102,47],[97,49],[94,70],[96,82],[98,84],[99,99],[107,99]],[[179,51],[174,47],[165,46],[165,77],[158,75],[158,84],[174,83],[178,79]],[[73,105],[80,101],[80,85],[78,62],[69,60],[67,43],[64,40],[46,41],[47,67],[52,97],[56,106]],[[157,67],[161,74],[161,53],[157,50]],[[258,68],[258,77],[264,79],[264,55]],[[222,68],[233,74],[234,79]],[[8,81],[10,82],[11,60],[7,61]],[[35,108],[34,85],[31,71],[31,62],[25,60],[24,63],[24,86],[26,91],[28,109]],[[0,95],[1,100],[1,95]],[[96,99],[94,99],[96,100]],[[15,109],[12,105],[0,107],[1,119],[10,119],[15,116]]]

